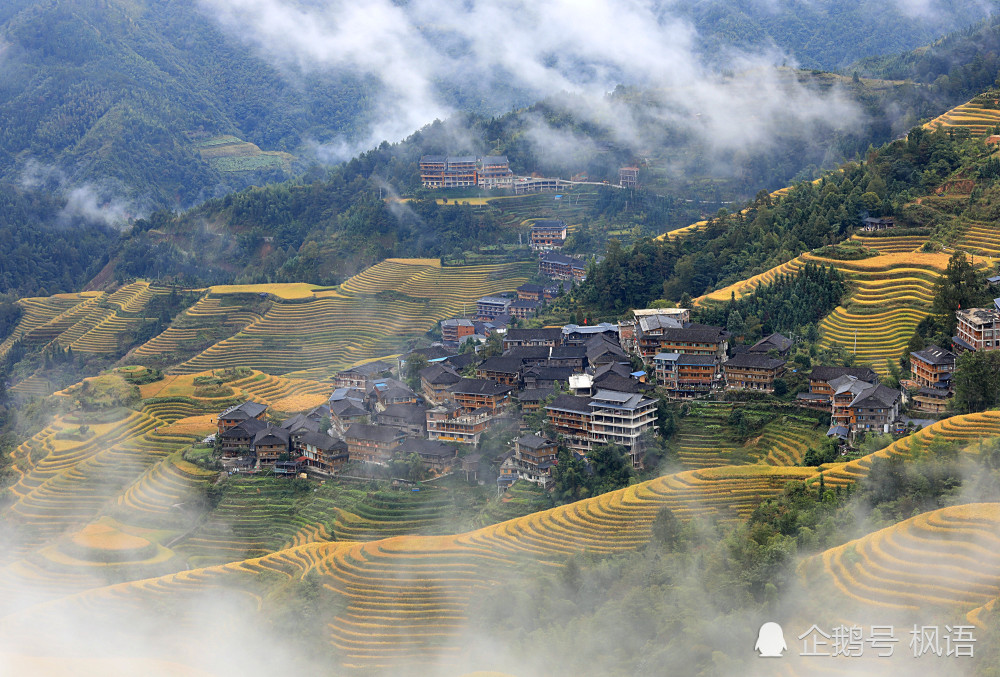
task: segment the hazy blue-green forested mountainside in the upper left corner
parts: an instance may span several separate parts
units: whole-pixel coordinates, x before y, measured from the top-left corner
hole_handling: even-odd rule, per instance
[[[0,8],[0,180],[33,161],[110,184],[138,206],[181,207],[247,182],[192,139],[232,134],[266,150],[350,137],[372,83],[279,71],[228,39],[197,3],[10,0]]]

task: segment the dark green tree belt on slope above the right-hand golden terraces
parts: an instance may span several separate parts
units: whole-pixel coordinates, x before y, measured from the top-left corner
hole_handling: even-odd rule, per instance
[[[745,210],[721,210],[705,228],[683,238],[613,244],[575,292],[602,312],[623,312],[659,298],[698,296],[764,272],[803,251],[847,237],[869,214],[919,218],[903,210],[960,165],[984,155],[981,139],[914,128],[905,140],[871,149],[863,163],[849,163],[818,183],[796,184],[774,200],[761,191]]]

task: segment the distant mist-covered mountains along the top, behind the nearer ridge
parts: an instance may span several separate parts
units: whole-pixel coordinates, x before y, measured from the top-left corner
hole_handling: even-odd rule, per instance
[[[617,84],[690,87],[708,72],[705,53],[739,68],[761,53],[830,68],[913,48],[980,18],[952,4],[664,2],[550,31],[555,17],[516,5],[449,16],[434,2],[369,3],[364,19],[281,0],[11,0],[0,8],[0,180],[86,189],[120,221],[281,180],[455,111]],[[642,61],[621,50],[624,35],[648,47]]]

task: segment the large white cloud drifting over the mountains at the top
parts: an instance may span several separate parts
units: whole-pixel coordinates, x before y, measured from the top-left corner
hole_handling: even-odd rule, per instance
[[[789,58],[776,50],[732,55],[738,78],[712,72],[696,55],[694,29],[653,1],[201,3],[279,63],[377,78],[377,122],[360,144],[322,140],[318,148],[332,158],[447,116],[444,93],[456,90],[487,96],[515,88],[534,99],[579,94],[588,102],[581,114],[635,141],[637,127],[625,107],[604,95],[618,83],[637,84],[659,93],[653,114],[664,124],[679,123],[720,148],[766,143],[776,124],[845,126],[859,117],[836,90],[818,92],[781,77],[775,65]]]

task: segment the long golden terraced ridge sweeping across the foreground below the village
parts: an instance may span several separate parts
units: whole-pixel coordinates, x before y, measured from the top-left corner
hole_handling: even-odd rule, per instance
[[[811,472],[767,466],[690,471],[458,536],[312,542],[261,558],[84,592],[50,603],[49,609],[83,608],[89,618],[111,621],[132,605],[208,594],[248,573],[296,580],[312,572],[344,599],[343,612],[329,626],[329,641],[344,669],[448,661],[461,651],[474,591],[525,566],[559,563],[574,553],[639,547],[663,506],[682,519],[741,519],[787,481]],[[291,536],[302,537],[299,530]],[[33,627],[31,610],[7,620],[4,632]]]

